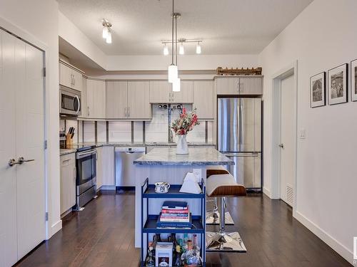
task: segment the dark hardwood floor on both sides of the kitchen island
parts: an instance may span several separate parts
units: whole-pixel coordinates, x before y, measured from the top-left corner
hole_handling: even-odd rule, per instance
[[[229,211],[247,253],[208,253],[216,266],[351,266],[308,231],[283,201],[261,194],[230,198]],[[218,229],[209,226],[209,230]],[[104,192],[81,212],[63,220],[63,229],[17,266],[139,266],[134,248],[134,193]]]

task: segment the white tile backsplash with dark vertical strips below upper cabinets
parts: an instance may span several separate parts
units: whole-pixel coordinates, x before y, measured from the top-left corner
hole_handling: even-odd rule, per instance
[[[191,110],[191,105],[183,105],[183,107],[188,111]],[[78,142],[95,142],[95,140],[97,140],[97,142],[106,142],[107,140],[109,142],[168,142],[169,110],[160,109],[158,105],[153,105],[152,109],[153,118],[151,121],[79,121],[77,125],[76,120],[66,120],[66,122],[61,120],[60,129],[64,128],[64,125],[66,125],[66,130],[71,126],[75,127],[78,137],[74,140],[78,140]],[[178,115],[178,110],[172,110],[171,122],[176,120]],[[107,124],[108,136],[106,129]],[[81,129],[82,125],[83,130]],[[77,127],[79,127],[79,129],[77,129]],[[187,141],[206,142],[207,140],[207,142],[212,142],[212,127],[213,122],[200,121],[200,125],[196,125],[196,127],[194,127],[187,135]],[[176,141],[177,137],[174,135],[174,142]]]

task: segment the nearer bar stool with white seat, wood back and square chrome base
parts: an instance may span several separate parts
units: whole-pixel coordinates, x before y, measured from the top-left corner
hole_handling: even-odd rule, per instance
[[[221,198],[221,214],[225,214],[226,206],[223,197],[246,196],[246,188],[237,184],[231,174],[215,174],[207,179],[208,197]],[[246,252],[241,236],[238,232],[226,232],[226,217],[221,216],[219,232],[206,232],[206,251]]]

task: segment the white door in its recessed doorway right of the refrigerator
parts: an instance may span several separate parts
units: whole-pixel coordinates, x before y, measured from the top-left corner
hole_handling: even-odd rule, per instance
[[[273,75],[271,198],[296,211],[297,61]]]

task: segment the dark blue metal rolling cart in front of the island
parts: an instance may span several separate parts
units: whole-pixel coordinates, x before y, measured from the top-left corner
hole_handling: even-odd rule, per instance
[[[202,192],[200,194],[181,193],[181,184],[171,184],[169,192],[159,194],[155,192],[155,184],[149,184],[149,178],[145,179],[141,186],[141,266],[145,264],[147,244],[144,244],[144,235],[146,243],[149,240],[149,234],[198,234],[201,241],[202,266],[206,266],[206,184],[203,179],[200,184]],[[158,229],[156,221],[159,214],[149,214],[150,199],[197,199],[201,204],[201,214],[192,215],[191,229]],[[146,208],[144,208],[146,201]],[[144,215],[146,220],[144,221]]]

